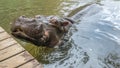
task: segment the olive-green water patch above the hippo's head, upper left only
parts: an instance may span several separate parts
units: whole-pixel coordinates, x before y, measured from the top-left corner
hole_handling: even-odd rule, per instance
[[[58,15],[60,3],[56,0],[0,0],[0,25],[10,32],[10,22],[21,15]]]

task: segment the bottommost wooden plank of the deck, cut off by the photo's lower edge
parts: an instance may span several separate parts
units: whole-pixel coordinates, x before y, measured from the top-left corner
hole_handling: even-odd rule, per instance
[[[35,59],[18,67],[18,68],[28,68],[28,67],[29,68],[43,68],[43,66],[41,64],[39,64],[38,61]]]

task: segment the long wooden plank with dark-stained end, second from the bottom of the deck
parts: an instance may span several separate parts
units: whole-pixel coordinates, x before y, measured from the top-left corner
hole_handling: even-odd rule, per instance
[[[32,60],[32,59],[34,58],[27,51],[25,51],[8,60],[0,62],[0,68],[17,68],[17,66],[23,63],[26,63],[27,61]]]

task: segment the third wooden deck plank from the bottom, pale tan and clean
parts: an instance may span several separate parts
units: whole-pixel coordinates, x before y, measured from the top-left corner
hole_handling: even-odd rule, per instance
[[[0,51],[0,61],[7,59],[21,51],[23,51],[25,49],[23,49],[19,44],[13,45],[9,48],[6,48],[4,50]]]

